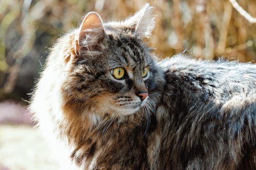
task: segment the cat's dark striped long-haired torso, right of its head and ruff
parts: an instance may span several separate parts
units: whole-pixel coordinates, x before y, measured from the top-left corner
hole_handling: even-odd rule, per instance
[[[256,65],[182,56],[160,63],[152,169],[255,169]]]

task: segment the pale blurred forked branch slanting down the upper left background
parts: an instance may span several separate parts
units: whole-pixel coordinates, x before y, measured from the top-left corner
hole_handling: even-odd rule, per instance
[[[26,4],[25,4],[26,3]],[[14,64],[8,70],[7,81],[4,84],[4,92],[10,93],[13,91],[18,73],[20,70],[20,66],[22,65],[22,61],[24,57],[31,51],[34,41],[35,41],[35,33],[36,33],[36,21],[41,19],[46,15],[46,10],[48,7],[51,7],[52,0],[48,1],[39,1],[32,8],[31,11],[28,12],[29,6],[31,5],[30,1],[24,1],[23,8],[23,17],[22,20],[22,38],[15,44],[18,46],[18,49],[13,52],[10,51],[7,56],[12,56],[15,60]]]

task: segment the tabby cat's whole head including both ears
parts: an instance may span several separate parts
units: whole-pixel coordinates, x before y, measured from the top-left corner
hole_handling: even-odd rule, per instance
[[[142,38],[153,28],[148,4],[120,22],[103,23],[97,13],[87,14],[71,33],[72,55],[65,60],[69,71],[62,94],[68,106],[82,103],[83,114],[110,115],[152,109],[163,79]]]

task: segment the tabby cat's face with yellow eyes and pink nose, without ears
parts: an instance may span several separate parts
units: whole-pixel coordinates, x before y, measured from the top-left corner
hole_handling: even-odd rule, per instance
[[[106,111],[132,114],[146,104],[148,92],[154,89],[154,61],[135,37],[107,34],[105,39],[101,54],[77,60],[74,76],[79,79],[78,90],[90,93],[90,100],[104,105]]]

